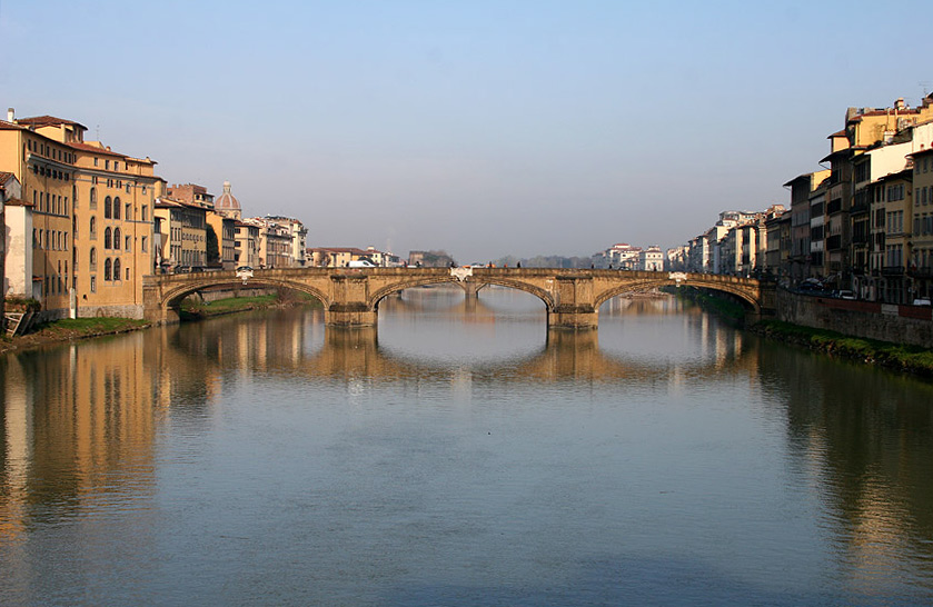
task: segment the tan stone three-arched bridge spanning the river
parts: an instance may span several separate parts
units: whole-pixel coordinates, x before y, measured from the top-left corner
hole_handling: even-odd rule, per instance
[[[487,285],[526,291],[547,308],[554,328],[595,329],[599,306],[613,297],[668,285],[724,291],[746,305],[750,315],[773,314],[773,283],[732,276],[628,270],[555,268],[288,268],[255,270],[246,281],[235,271],[156,275],[143,279],[145,318],[178,321],[181,300],[211,287],[292,289],[320,300],[328,326],[375,326],[379,301],[405,289],[455,283],[467,298]]]

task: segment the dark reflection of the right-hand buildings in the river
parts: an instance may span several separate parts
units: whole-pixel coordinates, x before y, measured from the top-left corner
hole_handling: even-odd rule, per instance
[[[905,558],[933,576],[933,386],[774,346],[761,364],[793,464],[841,538],[836,557],[850,583],[884,596],[912,567]]]

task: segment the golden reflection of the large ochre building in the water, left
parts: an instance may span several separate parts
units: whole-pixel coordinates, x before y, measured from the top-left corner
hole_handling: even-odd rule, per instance
[[[153,478],[152,369],[142,335],[11,355],[2,366],[0,537],[34,513],[139,491]]]

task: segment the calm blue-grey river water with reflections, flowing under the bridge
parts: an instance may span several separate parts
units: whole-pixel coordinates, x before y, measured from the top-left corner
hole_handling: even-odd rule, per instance
[[[933,387],[410,289],[0,358],[3,605],[929,605]]]

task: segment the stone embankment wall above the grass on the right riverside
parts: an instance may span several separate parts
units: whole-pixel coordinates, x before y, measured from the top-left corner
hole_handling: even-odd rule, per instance
[[[777,291],[777,318],[844,335],[933,348],[933,309]]]

